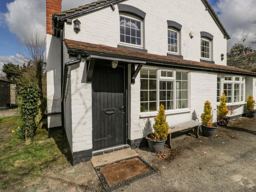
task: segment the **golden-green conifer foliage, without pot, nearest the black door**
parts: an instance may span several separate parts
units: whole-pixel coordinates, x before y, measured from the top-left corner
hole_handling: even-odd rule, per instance
[[[153,128],[154,136],[158,138],[157,140],[165,140],[167,138],[169,125],[166,121],[165,108],[162,104],[159,108],[158,115],[155,117]]]

